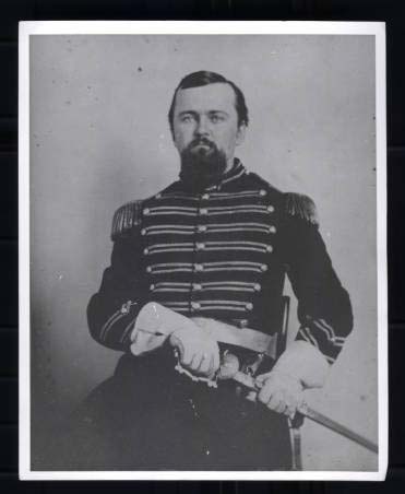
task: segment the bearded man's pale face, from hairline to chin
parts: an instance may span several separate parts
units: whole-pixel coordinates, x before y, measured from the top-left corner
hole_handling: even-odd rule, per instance
[[[235,92],[229,84],[214,83],[179,90],[174,111],[174,140],[180,156],[191,161],[225,160],[233,165],[236,145],[243,141],[246,126],[238,126]]]

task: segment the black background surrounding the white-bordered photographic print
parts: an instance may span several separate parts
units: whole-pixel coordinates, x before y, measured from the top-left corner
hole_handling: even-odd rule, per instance
[[[17,480],[17,23],[46,20],[386,22],[390,454],[384,483]],[[349,494],[394,493],[405,489],[404,49],[405,2],[402,0],[3,0],[0,3],[0,487],[3,492]]]

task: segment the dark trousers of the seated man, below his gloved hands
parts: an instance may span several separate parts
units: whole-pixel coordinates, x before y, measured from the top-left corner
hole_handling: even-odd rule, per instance
[[[123,355],[76,410],[58,446],[63,469],[288,470],[287,421],[175,369],[172,356]]]

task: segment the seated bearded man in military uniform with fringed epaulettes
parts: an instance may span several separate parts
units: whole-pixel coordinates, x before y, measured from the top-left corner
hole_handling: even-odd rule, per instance
[[[111,264],[87,315],[94,339],[124,354],[81,409],[87,468],[290,468],[287,417],[323,385],[353,316],[311,199],[235,156],[248,124],[231,81],[183,78],[169,110],[179,180],[115,214]],[[275,354],[286,275],[300,327]],[[257,399],[226,379],[235,362]]]

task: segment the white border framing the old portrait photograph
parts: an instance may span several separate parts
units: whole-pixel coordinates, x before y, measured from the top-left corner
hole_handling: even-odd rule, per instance
[[[29,39],[35,35],[373,35],[376,38],[378,471],[33,471],[31,469]],[[381,481],[388,469],[385,23],[281,21],[37,21],[19,32],[19,314],[21,480]]]

